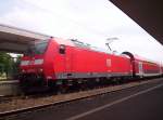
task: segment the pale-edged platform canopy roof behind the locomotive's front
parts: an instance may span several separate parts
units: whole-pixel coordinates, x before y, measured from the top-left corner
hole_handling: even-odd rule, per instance
[[[24,53],[35,41],[49,38],[50,36],[0,24],[0,51]]]

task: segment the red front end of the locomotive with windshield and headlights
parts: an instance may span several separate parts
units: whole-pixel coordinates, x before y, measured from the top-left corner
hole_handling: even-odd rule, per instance
[[[46,86],[45,57],[49,41],[37,42],[30,45],[21,59],[20,82],[23,90]]]

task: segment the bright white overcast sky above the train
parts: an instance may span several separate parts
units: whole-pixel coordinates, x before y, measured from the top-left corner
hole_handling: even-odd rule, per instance
[[[163,64],[163,46],[109,0],[1,0],[0,24],[78,39]]]

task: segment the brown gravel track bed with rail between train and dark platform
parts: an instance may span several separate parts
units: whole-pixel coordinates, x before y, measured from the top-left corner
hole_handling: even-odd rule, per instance
[[[163,80],[163,78],[135,81],[126,84],[88,90],[88,91],[80,91],[76,93],[14,99],[8,103],[0,104],[0,120],[9,119],[25,112],[32,112],[34,110],[43,109],[53,105],[60,105],[60,104],[64,104],[77,99],[88,98],[88,97],[95,97],[101,94],[106,94],[109,92],[129,89],[133,86],[142,85],[151,82],[158,82],[161,80]]]

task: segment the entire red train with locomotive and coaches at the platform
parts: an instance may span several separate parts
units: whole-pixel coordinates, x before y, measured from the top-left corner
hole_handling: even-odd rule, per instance
[[[65,86],[101,80],[161,76],[163,67],[135,57],[97,51],[77,40],[51,38],[37,42],[22,57],[20,81],[23,88]],[[122,79],[123,80],[123,79]]]

